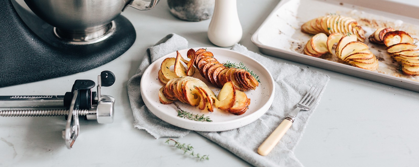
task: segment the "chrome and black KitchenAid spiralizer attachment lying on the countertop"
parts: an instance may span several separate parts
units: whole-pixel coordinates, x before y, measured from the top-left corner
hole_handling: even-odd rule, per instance
[[[67,123],[62,131],[65,145],[72,148],[80,132],[79,116],[87,120],[96,120],[99,124],[114,121],[114,103],[112,96],[101,95],[102,86],[111,86],[115,75],[111,71],[102,71],[98,76],[97,93],[92,91],[95,82],[76,80],[70,92],[65,95],[42,96],[0,96],[0,107],[55,107],[66,109],[2,110],[0,116],[66,116]],[[100,97],[100,98],[99,98]]]

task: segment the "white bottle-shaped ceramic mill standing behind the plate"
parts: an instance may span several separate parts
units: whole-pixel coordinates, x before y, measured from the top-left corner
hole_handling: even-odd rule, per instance
[[[214,45],[230,47],[241,40],[243,30],[237,14],[236,0],[215,0],[208,38]]]

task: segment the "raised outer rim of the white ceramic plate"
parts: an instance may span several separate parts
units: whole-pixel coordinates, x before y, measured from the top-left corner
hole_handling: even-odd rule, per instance
[[[266,81],[266,83],[269,83],[270,85],[267,87],[272,88],[271,90],[268,90],[270,92],[269,94],[269,99],[265,102],[265,104],[263,106],[261,106],[261,108],[257,109],[256,111],[254,111],[253,113],[247,115],[247,116],[243,116],[237,119],[233,119],[233,120],[229,120],[229,121],[220,121],[220,122],[201,122],[201,121],[192,121],[189,119],[184,119],[184,118],[180,118],[178,116],[174,116],[174,115],[169,115],[166,114],[163,111],[160,111],[160,109],[158,109],[158,106],[156,106],[155,101],[153,101],[152,99],[150,99],[150,97],[147,97],[144,95],[144,89],[146,88],[146,83],[147,83],[147,77],[144,77],[144,75],[156,75],[154,73],[151,73],[151,70],[154,66],[160,66],[160,64],[157,64],[158,62],[161,62],[164,58],[167,58],[170,55],[173,55],[176,52],[172,52],[169,53],[159,59],[157,59],[155,62],[151,63],[149,67],[147,67],[147,69],[145,70],[142,78],[141,78],[141,82],[140,82],[140,91],[141,91],[141,96],[142,99],[145,103],[145,105],[147,106],[147,108],[158,118],[162,119],[163,121],[168,122],[169,124],[175,125],[177,127],[181,127],[184,129],[189,129],[189,130],[196,130],[196,131],[203,131],[203,132],[219,132],[219,131],[226,131],[226,130],[231,130],[231,129],[236,129],[239,127],[243,127],[245,125],[248,125],[250,123],[252,123],[253,121],[256,121],[257,119],[259,119],[263,114],[266,113],[266,111],[268,111],[269,107],[272,105],[273,99],[274,99],[274,92],[275,92],[275,85],[274,85],[274,79],[272,78],[271,73],[258,61],[256,61],[255,59],[246,56],[242,53],[236,52],[236,51],[232,51],[229,49],[224,49],[224,48],[213,48],[213,47],[198,47],[198,48],[193,48],[195,50],[199,49],[199,48],[207,48],[208,50],[219,50],[219,51],[225,51],[226,53],[228,52],[233,52],[233,53],[237,53],[240,56],[244,56],[247,57],[249,59],[251,59],[253,62],[244,62],[244,63],[254,63],[253,66],[259,66],[259,71],[263,71],[264,73],[269,74],[269,78],[270,81]],[[188,49],[184,49],[181,50],[179,52],[186,52]],[[257,90],[257,89],[256,89]],[[158,90],[155,90],[158,91]],[[158,105],[165,105],[165,104],[160,104],[160,102],[158,102]]]

